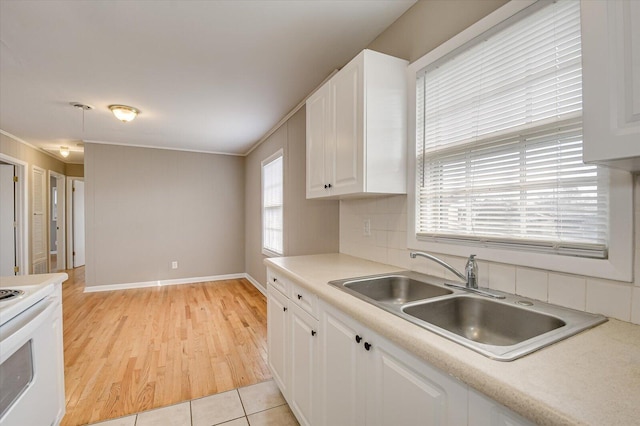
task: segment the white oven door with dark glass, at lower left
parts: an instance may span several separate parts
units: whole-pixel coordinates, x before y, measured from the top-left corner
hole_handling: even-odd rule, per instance
[[[59,304],[43,299],[0,326],[0,426],[49,426],[61,420]]]

